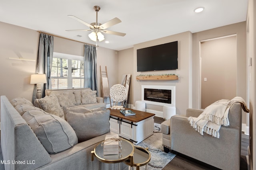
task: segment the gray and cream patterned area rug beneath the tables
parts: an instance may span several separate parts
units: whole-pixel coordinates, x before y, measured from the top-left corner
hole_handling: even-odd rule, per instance
[[[148,163],[148,170],[161,170],[176,156],[176,152],[164,152],[164,148],[162,146],[162,133],[160,131],[160,124],[158,123],[154,123],[154,134],[138,143],[137,146],[143,148],[148,147],[151,154],[151,159]],[[145,169],[146,166],[140,167],[140,170]]]

